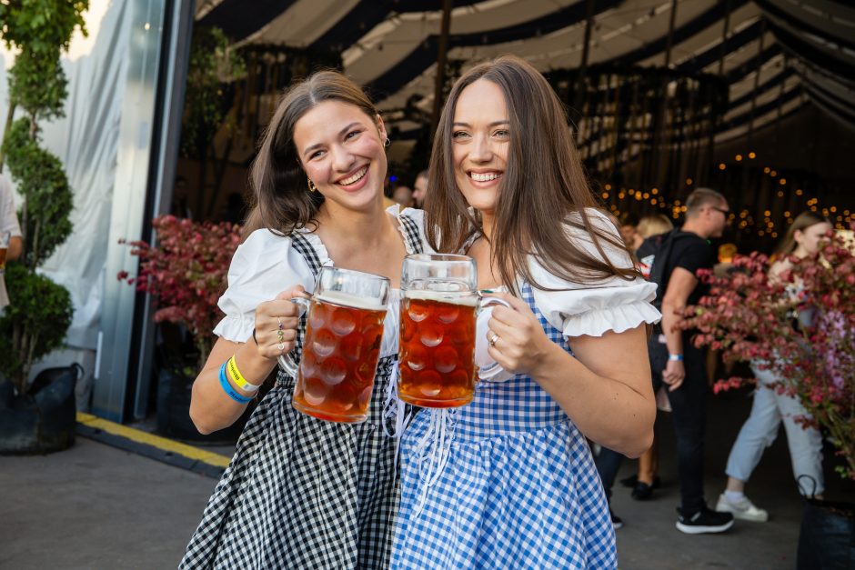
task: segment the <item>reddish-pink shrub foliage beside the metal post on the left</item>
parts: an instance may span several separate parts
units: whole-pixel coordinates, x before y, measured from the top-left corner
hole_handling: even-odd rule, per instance
[[[214,326],[223,318],[216,302],[226,290],[240,227],[197,224],[174,215],[158,216],[152,225],[157,245],[128,243],[131,254],[139,256],[139,275],[123,271],[117,277],[156,298],[156,323],[186,326],[199,351],[201,368],[213,346]]]

